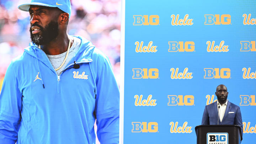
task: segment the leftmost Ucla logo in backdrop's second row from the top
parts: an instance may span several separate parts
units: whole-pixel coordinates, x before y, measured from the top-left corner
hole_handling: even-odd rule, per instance
[[[149,42],[149,44],[148,44],[148,46],[144,46],[143,47],[143,41],[141,41],[140,43],[139,42],[135,42],[135,45],[136,45],[136,49],[135,49],[135,51],[137,52],[137,53],[141,53],[141,52],[157,52],[157,49],[156,49],[156,47],[157,46],[152,46],[152,44],[153,44],[153,42],[152,41],[150,41]]]

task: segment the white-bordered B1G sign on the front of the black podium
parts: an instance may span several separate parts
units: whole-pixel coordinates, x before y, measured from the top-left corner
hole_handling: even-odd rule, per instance
[[[207,133],[207,144],[228,144],[228,133]]]

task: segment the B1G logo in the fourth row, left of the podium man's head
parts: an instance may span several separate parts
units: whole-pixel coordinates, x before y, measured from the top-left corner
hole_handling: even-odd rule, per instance
[[[168,106],[193,106],[194,105],[194,96],[193,95],[169,95]],[[184,102],[183,102],[184,99]]]

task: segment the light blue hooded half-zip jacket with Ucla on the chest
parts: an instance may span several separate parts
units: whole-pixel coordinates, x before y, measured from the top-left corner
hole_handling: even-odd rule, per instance
[[[0,94],[0,144],[95,144],[95,119],[101,144],[119,143],[119,90],[110,62],[78,38],[81,46],[59,78],[32,43],[12,60]]]

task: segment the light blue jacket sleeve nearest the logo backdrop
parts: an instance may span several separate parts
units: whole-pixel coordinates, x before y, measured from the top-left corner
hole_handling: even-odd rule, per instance
[[[119,144],[119,89],[106,57],[96,78],[96,124],[101,144]]]

